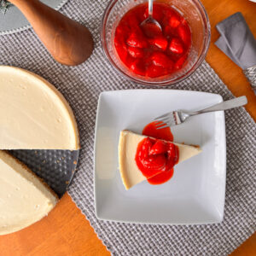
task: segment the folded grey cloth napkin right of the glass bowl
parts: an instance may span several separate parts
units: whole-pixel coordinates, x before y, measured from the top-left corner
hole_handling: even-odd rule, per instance
[[[216,45],[247,76],[256,92],[256,40],[241,13],[231,15],[216,26],[220,37]]]

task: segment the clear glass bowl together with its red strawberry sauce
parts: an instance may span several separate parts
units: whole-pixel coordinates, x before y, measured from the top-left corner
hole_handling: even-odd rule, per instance
[[[170,85],[187,78],[210,43],[207,13],[198,0],[154,1],[161,30],[141,26],[147,0],[112,0],[102,19],[102,49],[119,73],[138,84]]]

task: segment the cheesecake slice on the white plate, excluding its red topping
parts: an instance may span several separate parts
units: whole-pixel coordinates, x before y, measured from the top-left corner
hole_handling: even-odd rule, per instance
[[[147,179],[139,170],[136,162],[136,154],[138,144],[147,136],[139,135],[131,131],[121,131],[119,136],[119,172],[125,189],[131,189],[137,183],[141,183]],[[166,142],[170,143],[170,142]],[[173,143],[177,146],[179,156],[178,162],[201,153],[200,147],[189,146],[184,144]]]

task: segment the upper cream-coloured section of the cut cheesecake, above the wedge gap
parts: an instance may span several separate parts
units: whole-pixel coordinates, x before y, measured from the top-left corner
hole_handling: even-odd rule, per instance
[[[79,149],[73,111],[52,84],[0,66],[0,149]]]

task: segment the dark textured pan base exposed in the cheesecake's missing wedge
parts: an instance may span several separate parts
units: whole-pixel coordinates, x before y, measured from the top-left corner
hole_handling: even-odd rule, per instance
[[[72,182],[79,160],[79,150],[11,150],[38,177],[61,197]]]

